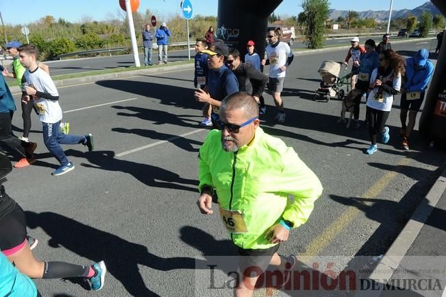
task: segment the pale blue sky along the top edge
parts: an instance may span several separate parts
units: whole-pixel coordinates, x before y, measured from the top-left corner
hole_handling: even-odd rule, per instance
[[[217,14],[217,0],[190,0],[193,4],[194,14],[215,15]],[[224,1],[224,0],[221,0]],[[241,0],[243,1],[243,0]],[[354,3],[354,10],[388,10],[390,0],[377,1],[347,1],[329,0],[330,8],[336,10],[351,10]],[[260,1],[259,1],[260,2]],[[21,8],[17,5],[20,3]],[[144,13],[149,9],[158,19],[180,13],[180,0],[140,0],[139,12]],[[425,0],[394,0],[393,9],[404,8],[413,9],[425,3]],[[301,0],[284,0],[275,10],[280,15],[297,15],[301,12]],[[25,25],[32,21],[37,21],[41,17],[50,14],[56,20],[66,19],[70,22],[80,22],[84,16],[89,16],[95,21],[112,19],[119,15],[119,0],[0,0],[0,12],[3,21],[10,25]],[[27,15],[21,14],[27,12]]]

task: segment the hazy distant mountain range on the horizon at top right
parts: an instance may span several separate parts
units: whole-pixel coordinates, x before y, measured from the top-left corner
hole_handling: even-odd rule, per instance
[[[399,17],[406,19],[406,17],[410,14],[412,16],[417,16],[417,19],[420,18],[421,13],[424,11],[430,12],[433,16],[435,14],[442,14],[438,8],[432,2],[428,1],[423,5],[414,8],[412,10],[404,9],[404,10],[392,10],[392,19],[397,19]],[[345,18],[347,16],[347,10],[329,10],[330,20],[336,20],[339,16]],[[358,12],[361,19],[364,18],[372,18],[375,21],[387,21],[388,20],[388,10],[367,10],[364,12]]]

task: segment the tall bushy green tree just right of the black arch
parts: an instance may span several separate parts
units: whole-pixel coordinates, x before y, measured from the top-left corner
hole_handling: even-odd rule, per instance
[[[323,47],[323,35],[325,34],[325,21],[328,19],[328,0],[303,0],[303,12],[305,13],[303,34],[305,43],[310,49]]]

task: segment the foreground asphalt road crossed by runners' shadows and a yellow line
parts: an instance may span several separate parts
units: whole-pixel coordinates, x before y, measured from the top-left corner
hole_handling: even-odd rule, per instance
[[[395,49],[412,55],[425,46],[414,40]],[[275,108],[266,95],[261,126],[294,147],[324,187],[307,224],[293,230],[280,252],[343,256],[345,265],[353,265],[354,256],[386,252],[445,159],[444,152],[428,149],[418,132],[410,152],[399,150],[399,96],[388,119],[391,140],[372,156],[364,154],[367,130],[337,123],[341,103],[312,101],[321,62],[344,57],[344,50],[296,56],[282,93],[287,121],[273,122]],[[208,278],[197,275],[207,272],[195,270],[195,261],[206,265],[212,255],[234,255],[235,250],[218,215],[201,215],[195,204],[197,153],[207,130],[197,126],[201,107],[193,99],[193,71],[106,80],[59,92],[71,134],[92,133],[95,151],[66,145],[76,168],[51,176],[58,163],[33,118],[30,137],[38,143],[38,162],[14,169],[5,188],[27,211],[29,233],[39,239],[36,257],[83,265],[106,261],[106,285],[95,296],[204,296],[197,289],[209,285]],[[362,105],[361,119],[364,110]],[[22,126],[20,112],[13,123]],[[82,282],[36,284],[42,296],[93,294]]]

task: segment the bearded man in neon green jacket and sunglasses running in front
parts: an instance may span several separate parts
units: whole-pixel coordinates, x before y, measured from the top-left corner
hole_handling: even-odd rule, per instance
[[[210,131],[199,152],[199,209],[212,214],[212,196],[218,197],[221,222],[245,256],[234,296],[252,296],[268,265],[285,270],[283,285],[288,281],[297,259],[277,254],[279,243],[307,221],[323,189],[293,148],[263,132],[259,123],[256,100],[234,93],[222,102],[221,131]],[[253,266],[254,275],[245,270]]]

